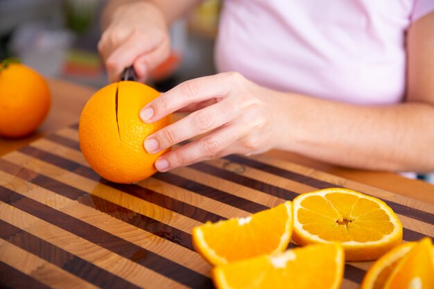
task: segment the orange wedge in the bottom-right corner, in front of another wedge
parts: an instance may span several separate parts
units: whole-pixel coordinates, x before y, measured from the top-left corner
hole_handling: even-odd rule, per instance
[[[423,238],[390,274],[384,289],[432,289],[434,288],[433,244],[431,238]]]

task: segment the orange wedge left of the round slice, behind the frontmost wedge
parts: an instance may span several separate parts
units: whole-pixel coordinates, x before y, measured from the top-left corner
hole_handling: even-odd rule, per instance
[[[293,206],[279,206],[247,218],[233,218],[193,228],[193,245],[209,263],[226,264],[282,252],[293,230]]]

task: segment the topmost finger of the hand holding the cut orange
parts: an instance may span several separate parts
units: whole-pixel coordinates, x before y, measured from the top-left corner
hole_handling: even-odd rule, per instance
[[[182,107],[212,98],[225,98],[229,93],[232,79],[231,73],[219,73],[215,76],[205,76],[187,80],[173,89],[155,98],[140,112],[141,120],[153,123]],[[236,85],[232,92],[236,92]]]

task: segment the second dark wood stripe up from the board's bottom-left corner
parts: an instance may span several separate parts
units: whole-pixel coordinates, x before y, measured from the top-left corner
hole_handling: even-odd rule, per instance
[[[121,277],[107,272],[3,220],[0,220],[0,238],[98,287],[139,288]]]

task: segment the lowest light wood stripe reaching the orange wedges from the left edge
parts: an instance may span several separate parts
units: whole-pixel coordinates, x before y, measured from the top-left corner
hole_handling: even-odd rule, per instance
[[[170,259],[186,268],[196,271],[205,276],[209,275],[209,264],[206,263],[196,252],[186,249],[175,243],[171,243],[168,240],[148,233],[147,231],[137,229],[126,222],[122,222],[112,216],[108,216],[105,213],[101,213],[96,209],[80,204],[79,202],[70,200],[58,195],[49,190],[31,184],[18,179],[8,173],[0,171],[0,184],[8,189],[12,189],[21,195],[25,195],[32,200],[46,204],[53,209],[58,209],[63,213],[67,213],[69,216],[78,218],[94,225],[104,231],[109,232],[128,240],[131,243],[139,245],[144,249],[148,249],[152,252],[164,256],[166,259]]]

